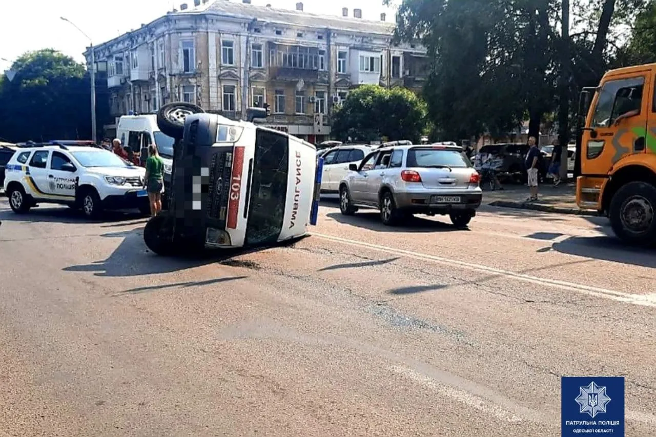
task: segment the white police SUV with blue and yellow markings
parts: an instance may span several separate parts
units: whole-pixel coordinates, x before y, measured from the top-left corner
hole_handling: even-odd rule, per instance
[[[106,209],[138,208],[150,214],[146,169],[96,146],[29,144],[5,169],[5,192],[14,213],[39,203],[81,209],[96,218]]]

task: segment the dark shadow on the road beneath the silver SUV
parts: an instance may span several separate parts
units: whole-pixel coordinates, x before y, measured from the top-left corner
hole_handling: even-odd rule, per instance
[[[350,224],[358,228],[365,228],[368,230],[375,230],[379,232],[452,232],[452,231],[468,231],[466,229],[458,229],[451,223],[439,222],[437,220],[428,220],[428,218],[421,218],[412,216],[403,222],[402,226],[385,226],[380,222],[380,213],[373,210],[365,209],[363,212],[358,212],[356,215],[348,216],[342,213],[328,213],[327,217],[332,218],[336,222],[342,224]],[[447,216],[443,216],[443,220],[449,220]]]

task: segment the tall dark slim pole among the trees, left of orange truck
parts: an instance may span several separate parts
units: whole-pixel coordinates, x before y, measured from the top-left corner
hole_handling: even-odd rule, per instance
[[[560,36],[560,98],[558,99],[558,140],[560,153],[560,177],[567,178],[567,144],[569,143],[569,0],[562,0],[562,19]],[[575,175],[576,176],[576,175]]]

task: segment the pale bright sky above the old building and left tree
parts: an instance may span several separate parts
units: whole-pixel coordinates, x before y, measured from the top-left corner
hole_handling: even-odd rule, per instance
[[[271,3],[276,8],[295,9],[297,1],[252,0],[251,3],[260,6]],[[194,0],[0,0],[0,3],[3,9],[0,14],[3,34],[1,72],[9,69],[24,52],[39,49],[55,49],[84,62],[82,52],[89,46],[89,39],[62,21],[62,16],[75,23],[98,45],[151,22],[173,7],[179,9],[181,3],[193,5]],[[394,17],[394,10],[383,7],[382,0],[304,0],[303,5],[306,12],[316,14],[340,16],[342,7],[348,7],[350,15],[353,9],[362,9],[365,20],[380,20],[381,12]]]

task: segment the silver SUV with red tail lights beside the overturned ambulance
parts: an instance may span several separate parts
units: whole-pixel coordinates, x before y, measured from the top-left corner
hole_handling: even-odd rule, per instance
[[[339,185],[342,214],[373,207],[387,225],[413,214],[441,214],[464,228],[483,197],[480,175],[458,146],[383,147],[349,170]]]

